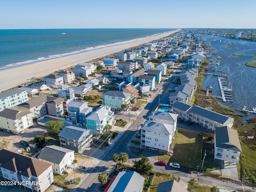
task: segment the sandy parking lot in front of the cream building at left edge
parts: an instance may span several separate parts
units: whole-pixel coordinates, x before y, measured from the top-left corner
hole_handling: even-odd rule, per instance
[[[8,132],[0,131],[0,149],[8,149],[13,152],[16,150],[24,150],[26,146],[20,144],[20,140],[30,141],[33,140],[36,135],[43,135],[47,132],[47,129],[34,124],[32,127],[26,129],[23,134],[15,135]]]

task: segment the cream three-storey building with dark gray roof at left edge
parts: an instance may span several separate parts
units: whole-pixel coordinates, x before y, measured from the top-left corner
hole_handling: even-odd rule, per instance
[[[6,132],[20,134],[32,125],[32,112],[16,108],[5,108],[0,112],[0,128]]]

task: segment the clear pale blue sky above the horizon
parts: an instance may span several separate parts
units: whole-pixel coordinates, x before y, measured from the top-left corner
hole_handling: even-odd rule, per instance
[[[256,28],[256,0],[1,0],[0,29]]]

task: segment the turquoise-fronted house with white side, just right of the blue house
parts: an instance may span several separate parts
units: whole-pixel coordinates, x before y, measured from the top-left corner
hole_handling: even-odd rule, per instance
[[[100,106],[94,113],[86,117],[86,128],[91,130],[92,134],[102,134],[105,126],[114,125],[114,112],[108,106]]]

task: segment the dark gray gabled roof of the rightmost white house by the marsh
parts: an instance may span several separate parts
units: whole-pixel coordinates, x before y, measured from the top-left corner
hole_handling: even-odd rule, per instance
[[[237,130],[224,127],[215,128],[216,147],[242,152]]]

